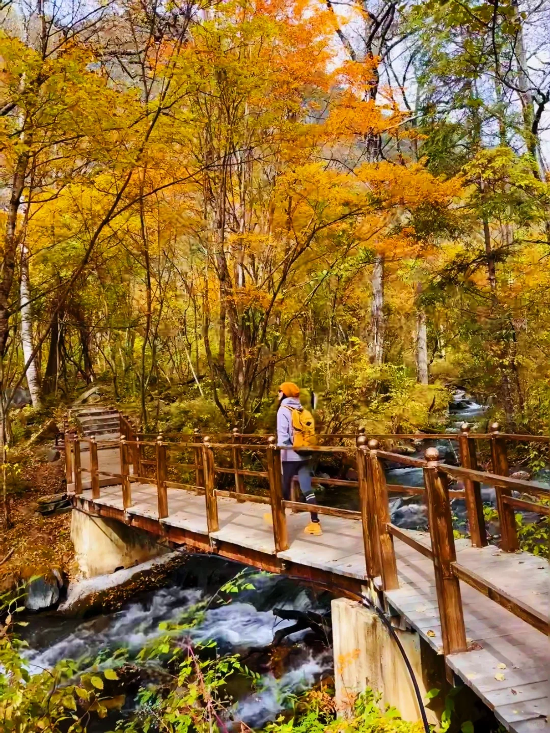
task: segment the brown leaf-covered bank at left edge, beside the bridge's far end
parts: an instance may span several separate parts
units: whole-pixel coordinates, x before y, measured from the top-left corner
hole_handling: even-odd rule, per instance
[[[70,512],[45,517],[37,512],[38,498],[66,490],[63,459],[44,463],[31,450],[17,459],[10,463],[16,467],[10,482],[12,526],[0,532],[0,561],[7,558],[0,564],[0,592],[53,568],[68,578],[75,570]]]

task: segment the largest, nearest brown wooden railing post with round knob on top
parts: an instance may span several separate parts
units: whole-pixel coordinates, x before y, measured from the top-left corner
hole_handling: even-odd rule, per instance
[[[441,621],[443,653],[465,652],[466,629],[462,611],[460,581],[452,572],[456,561],[455,537],[452,534],[452,518],[447,476],[438,469],[439,451],[428,448],[425,452],[428,465],[424,470],[428,519],[432,540],[433,570],[436,575],[436,593]]]

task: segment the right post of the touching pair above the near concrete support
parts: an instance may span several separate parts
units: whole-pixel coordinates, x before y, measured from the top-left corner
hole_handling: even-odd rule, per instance
[[[373,439],[367,443],[367,446],[369,449],[367,472],[372,476],[371,480],[374,487],[374,511],[378,524],[382,586],[385,591],[392,591],[399,588],[399,581],[397,579],[397,561],[395,560],[393,536],[388,531],[388,525],[392,522],[392,515],[389,512],[386,474],[384,474],[384,465],[376,454],[376,451],[380,448],[380,443]]]

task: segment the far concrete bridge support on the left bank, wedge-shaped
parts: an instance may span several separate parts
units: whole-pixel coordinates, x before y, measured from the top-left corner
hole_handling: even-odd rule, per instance
[[[70,537],[83,578],[132,567],[169,551],[152,534],[78,509],[73,509]]]

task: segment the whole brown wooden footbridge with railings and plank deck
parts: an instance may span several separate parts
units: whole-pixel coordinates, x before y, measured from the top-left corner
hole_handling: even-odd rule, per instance
[[[548,517],[550,491],[510,478],[507,459],[510,446],[549,438],[505,435],[498,424],[488,434],[463,425],[458,435],[321,436],[315,457],[346,463],[353,480],[314,484],[356,490],[360,511],[320,505],[323,535],[312,537],[303,531],[305,505],[283,499],[274,438],[236,430],[147,435],[122,417],[120,432],[118,446],[65,435],[67,488],[78,509],[337,594],[369,592],[444,655],[447,673],[469,685],[506,729],[550,730],[550,566],[518,550],[516,528],[516,509]],[[458,441],[461,465],[443,463],[433,447],[419,459],[379,442],[433,438]],[[477,468],[478,454],[490,456],[491,471]],[[422,469],[424,486],[387,485],[387,462]],[[496,493],[499,547],[488,543],[482,485]],[[392,524],[394,494],[423,496],[429,532]],[[469,538],[454,536],[452,498],[466,503]]]

